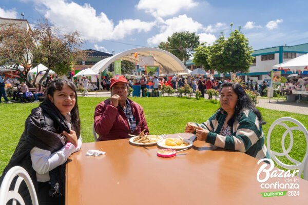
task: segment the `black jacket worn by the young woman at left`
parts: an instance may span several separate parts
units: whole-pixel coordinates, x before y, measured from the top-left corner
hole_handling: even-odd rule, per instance
[[[64,117],[59,110],[45,99],[38,108],[34,108],[25,122],[25,130],[17,144],[15,152],[8,166],[0,177],[0,185],[6,173],[14,166],[23,167],[30,175],[37,191],[36,172],[32,168],[30,151],[33,147],[49,150],[51,153],[60,150],[66,144],[66,138],[61,135],[63,131],[70,132]],[[58,182],[61,194],[65,193],[65,164],[49,172],[52,185]],[[20,193],[26,204],[31,203],[25,182],[22,183]]]

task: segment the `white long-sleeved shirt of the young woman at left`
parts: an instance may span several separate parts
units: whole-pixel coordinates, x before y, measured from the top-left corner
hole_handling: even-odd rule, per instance
[[[46,182],[50,180],[49,171],[63,165],[67,158],[74,152],[78,152],[82,145],[81,136],[78,139],[78,146],[75,148],[71,142],[68,142],[61,150],[51,154],[48,150],[37,147],[30,151],[32,167],[36,172],[37,181]]]

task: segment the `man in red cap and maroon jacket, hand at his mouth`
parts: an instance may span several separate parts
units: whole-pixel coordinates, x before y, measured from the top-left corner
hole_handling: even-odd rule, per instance
[[[98,141],[129,138],[128,134],[149,134],[143,108],[127,98],[129,85],[124,76],[111,78],[111,97],[102,101],[94,113]]]

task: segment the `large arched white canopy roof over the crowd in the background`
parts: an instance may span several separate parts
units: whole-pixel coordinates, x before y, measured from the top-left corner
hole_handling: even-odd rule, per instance
[[[137,58],[134,57],[134,53],[138,54]],[[175,55],[159,48],[150,47],[135,48],[124,51],[122,53],[115,54],[111,57],[99,61],[91,69],[97,73],[103,72],[111,63],[114,62],[114,60],[119,59],[129,60],[133,63],[137,61],[137,63],[139,64],[140,57],[142,56],[153,56],[155,65],[148,66],[160,66],[161,74],[188,72],[185,65]]]

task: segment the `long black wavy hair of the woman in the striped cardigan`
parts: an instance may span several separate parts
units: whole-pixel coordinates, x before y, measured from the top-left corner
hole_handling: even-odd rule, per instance
[[[248,97],[248,95],[246,94],[244,88],[240,84],[226,82],[226,83],[223,83],[221,85],[221,89],[226,88],[226,87],[232,87],[232,89],[234,90],[234,92],[238,96],[238,101],[237,101],[236,106],[235,106],[234,115],[229,120],[230,124],[233,124],[233,122],[235,120],[239,120],[240,117],[241,117],[240,114],[244,110],[252,110],[257,115],[258,119],[260,120],[260,124],[261,125],[266,124],[266,122],[263,120],[263,117],[262,117],[260,111],[252,103],[252,100]],[[220,109],[222,110],[221,107],[220,107]]]

